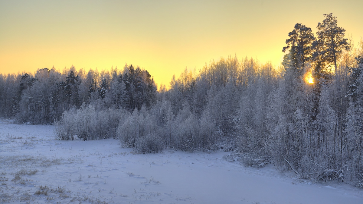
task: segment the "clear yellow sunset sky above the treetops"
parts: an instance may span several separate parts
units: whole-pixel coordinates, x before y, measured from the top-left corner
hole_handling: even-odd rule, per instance
[[[278,65],[294,25],[315,33],[325,13],[333,12],[358,44],[362,8],[362,0],[0,0],[0,73],[127,63],[168,85],[185,67],[198,70],[228,55]]]

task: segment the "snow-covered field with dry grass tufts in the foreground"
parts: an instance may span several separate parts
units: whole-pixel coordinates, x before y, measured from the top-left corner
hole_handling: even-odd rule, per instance
[[[246,168],[228,152],[134,154],[117,140],[60,141],[53,129],[0,120],[0,203],[363,203],[348,184]]]

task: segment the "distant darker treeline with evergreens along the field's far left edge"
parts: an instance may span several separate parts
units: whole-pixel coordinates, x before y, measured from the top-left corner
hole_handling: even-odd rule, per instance
[[[36,73],[0,74],[0,116],[18,123],[46,124],[82,103],[98,110],[113,107],[129,111],[156,101],[156,85],[148,71],[125,65],[119,71],[84,69],[72,65],[62,72],[44,68]]]

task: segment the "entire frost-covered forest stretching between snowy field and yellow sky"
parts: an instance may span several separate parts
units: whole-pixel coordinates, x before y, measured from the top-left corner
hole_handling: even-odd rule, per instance
[[[0,117],[138,153],[233,151],[246,166],[363,188],[363,42],[323,16],[316,34],[294,25],[278,67],[232,55],[185,68],[168,87],[131,64],[0,74]]]

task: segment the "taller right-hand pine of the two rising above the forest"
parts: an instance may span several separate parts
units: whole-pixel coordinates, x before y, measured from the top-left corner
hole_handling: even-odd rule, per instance
[[[323,93],[323,86],[327,85],[329,81],[333,80],[334,74],[338,76],[337,61],[339,60],[343,50],[349,50],[348,39],[344,38],[345,29],[338,27],[337,17],[333,16],[333,13],[323,14],[325,19],[319,22],[317,25],[317,40],[313,42],[313,60],[314,60],[314,99],[313,110],[311,119],[314,121],[313,128],[317,132],[317,148],[320,148],[320,143],[324,140],[324,127],[321,125],[322,120],[318,115],[321,115],[321,97]],[[328,86],[328,85],[327,85]],[[325,89],[329,89],[325,87]],[[339,105],[339,108],[342,108]],[[335,109],[336,110],[336,109]],[[339,110],[338,118],[341,119],[345,111]],[[342,122],[339,122],[339,125]],[[340,128],[340,129],[339,129]],[[339,126],[339,133],[341,127]],[[338,134],[338,133],[337,133]],[[323,138],[321,138],[321,136]],[[335,141],[335,140],[334,140]]]

